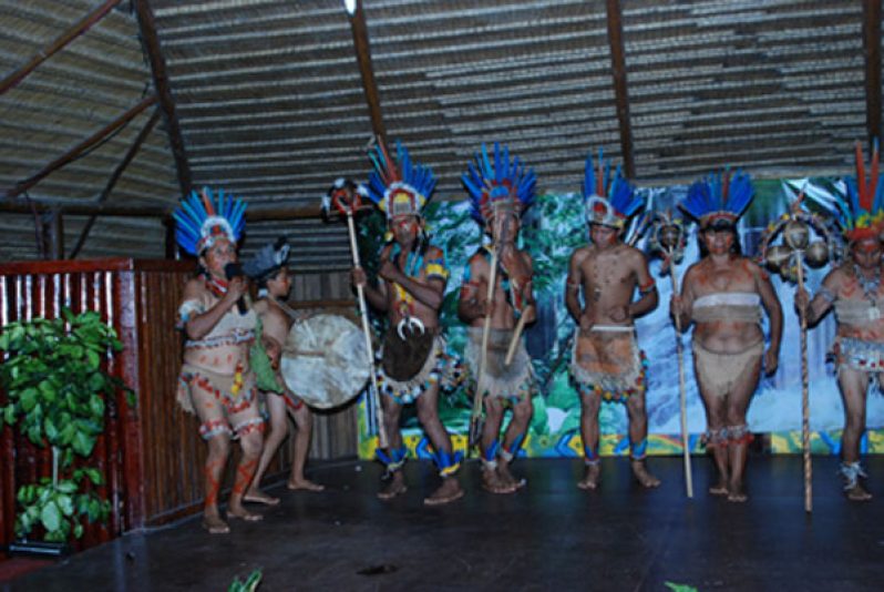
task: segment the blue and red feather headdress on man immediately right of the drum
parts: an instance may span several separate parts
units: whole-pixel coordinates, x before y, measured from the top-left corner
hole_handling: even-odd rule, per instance
[[[420,216],[430,194],[435,187],[433,171],[428,166],[412,163],[408,150],[400,142],[395,143],[397,163],[379,142],[373,152],[369,152],[374,171],[369,175],[369,198],[387,213],[387,220],[393,216]]]

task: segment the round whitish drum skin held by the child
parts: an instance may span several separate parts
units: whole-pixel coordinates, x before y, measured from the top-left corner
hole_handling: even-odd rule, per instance
[[[320,313],[296,320],[280,370],[289,390],[310,407],[339,407],[359,395],[369,379],[366,338],[342,315]]]

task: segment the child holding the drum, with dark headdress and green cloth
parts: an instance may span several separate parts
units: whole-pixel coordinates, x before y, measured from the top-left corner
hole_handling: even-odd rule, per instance
[[[243,265],[243,272],[258,285],[258,300],[255,313],[258,315],[258,334],[261,340],[273,340],[281,350],[285,346],[295,313],[285,303],[291,290],[291,278],[287,267],[289,245],[285,237],[261,247]],[[282,378],[280,364],[275,364],[265,351],[261,343],[251,347],[249,361],[257,378],[258,388],[265,395],[269,412],[270,433],[264,442],[258,470],[246,491],[246,501],[276,506],[279,498],[268,496],[260,489],[260,483],[270,461],[276,456],[279,445],[289,432],[288,416],[295,421],[297,432],[294,436],[295,450],[291,458],[291,472],[286,486],[288,489],[321,491],[317,484],[304,474],[307,455],[310,451],[310,435],[313,427],[313,415],[304,400],[292,392]]]

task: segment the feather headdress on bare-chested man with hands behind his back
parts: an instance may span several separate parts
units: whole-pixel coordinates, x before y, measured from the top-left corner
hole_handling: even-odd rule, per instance
[[[593,166],[592,153],[586,156],[583,182],[586,221],[623,229],[627,221],[645,205],[645,200],[636,194],[619,166],[611,177],[610,163],[605,162],[602,150],[598,151],[597,164],[597,167]]]

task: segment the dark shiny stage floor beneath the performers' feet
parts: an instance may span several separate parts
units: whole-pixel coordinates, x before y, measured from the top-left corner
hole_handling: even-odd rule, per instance
[[[875,499],[841,496],[836,459],[814,459],[814,511],[803,509],[800,457],[750,460],[749,502],[706,493],[711,467],[695,458],[687,500],[680,458],[654,458],[659,490],[634,484],[626,459],[604,459],[597,492],[575,487],[578,461],[520,460],[525,490],[493,496],[479,467],[466,497],[424,508],[429,463],[410,462],[408,493],[374,497],[380,467],[316,467],[323,493],[289,493],[259,523],[210,537],[191,519],[131,534],[14,580],[3,590],[227,590],[263,568],[274,590],[699,590],[884,589],[884,457],[870,461]],[[875,480],[876,478],[876,480]]]

